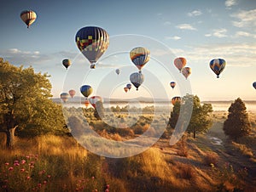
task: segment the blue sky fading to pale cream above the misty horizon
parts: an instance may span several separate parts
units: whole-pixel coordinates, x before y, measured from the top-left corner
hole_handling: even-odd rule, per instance
[[[93,94],[110,98],[172,98],[193,93],[201,100],[255,100],[256,1],[14,1],[1,0],[0,57],[9,63],[47,72],[53,97],[90,84]],[[34,10],[38,18],[29,29],[20,12]],[[108,31],[109,48],[96,66],[79,52],[74,37],[80,28],[100,26]],[[143,67],[145,81],[137,92],[125,93],[137,68],[129,59],[134,46],[150,50]],[[127,56],[128,55],[128,56]],[[179,74],[173,59],[184,57],[192,73]],[[62,59],[71,59],[66,70]],[[225,59],[219,78],[211,59]],[[120,69],[119,76],[114,73]],[[170,88],[169,82],[177,82]],[[165,96],[166,95],[166,96]]]

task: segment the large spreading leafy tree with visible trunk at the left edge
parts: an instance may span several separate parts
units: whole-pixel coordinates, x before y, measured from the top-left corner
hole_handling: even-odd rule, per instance
[[[0,132],[6,133],[8,148],[14,147],[16,129],[26,136],[61,130],[65,121],[61,106],[49,99],[47,74],[0,59],[0,76]]]

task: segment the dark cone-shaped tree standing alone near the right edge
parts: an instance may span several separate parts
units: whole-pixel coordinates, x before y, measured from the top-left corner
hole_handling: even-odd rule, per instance
[[[234,139],[245,136],[251,131],[247,108],[240,98],[230,105],[229,115],[227,120],[224,121],[223,129],[226,135]]]

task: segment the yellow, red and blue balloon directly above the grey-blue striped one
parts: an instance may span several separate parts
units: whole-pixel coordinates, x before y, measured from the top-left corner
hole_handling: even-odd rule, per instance
[[[133,48],[130,52],[130,58],[132,63],[137,66],[137,69],[141,72],[143,66],[150,59],[150,52],[148,48],[137,47]]]

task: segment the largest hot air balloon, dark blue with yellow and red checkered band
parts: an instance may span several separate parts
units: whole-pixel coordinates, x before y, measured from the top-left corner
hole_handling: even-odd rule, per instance
[[[96,61],[108,48],[109,37],[101,27],[85,26],[77,32],[75,42],[84,57],[90,61],[90,68],[95,69]]]

